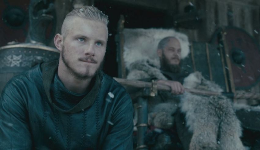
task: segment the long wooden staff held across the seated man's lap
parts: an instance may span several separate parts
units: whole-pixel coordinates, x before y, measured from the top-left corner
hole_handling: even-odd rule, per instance
[[[150,82],[144,82],[144,81],[138,81],[138,80],[129,80],[129,79],[121,79],[121,78],[114,78],[117,82],[121,83],[124,86],[131,86],[136,88],[151,88],[152,83]],[[171,88],[169,86],[166,86],[164,84],[158,83],[157,84],[157,90],[163,90],[163,91],[171,91]],[[255,99],[260,100],[260,93],[226,93],[226,92],[212,92],[212,91],[206,91],[206,90],[196,90],[196,89],[187,89],[185,88],[185,91],[198,94],[198,95],[207,95],[207,96],[228,96],[228,97],[234,97],[236,99]]]

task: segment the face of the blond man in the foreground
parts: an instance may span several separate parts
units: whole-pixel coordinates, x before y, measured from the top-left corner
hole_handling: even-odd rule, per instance
[[[92,78],[106,53],[106,25],[80,17],[71,21],[63,39],[60,59],[76,78]]]

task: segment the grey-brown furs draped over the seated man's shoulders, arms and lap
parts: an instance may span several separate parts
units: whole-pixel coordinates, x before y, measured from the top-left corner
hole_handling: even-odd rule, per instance
[[[130,65],[128,79],[157,77],[166,79],[152,60],[139,60]],[[184,79],[184,87],[221,92],[220,86],[208,81],[199,72]],[[189,130],[193,133],[190,150],[243,150],[241,127],[231,101],[224,96],[206,97],[185,92],[178,104],[185,114]],[[159,98],[148,101],[148,123],[169,129],[174,123],[177,101],[163,102]]]

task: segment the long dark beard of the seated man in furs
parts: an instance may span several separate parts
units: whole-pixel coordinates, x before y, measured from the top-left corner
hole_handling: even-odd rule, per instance
[[[180,73],[181,67],[180,64],[170,64],[169,60],[166,59],[164,53],[162,53],[161,70],[172,73]]]

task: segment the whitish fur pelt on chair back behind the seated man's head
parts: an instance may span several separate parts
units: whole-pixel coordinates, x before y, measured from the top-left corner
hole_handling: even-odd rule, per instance
[[[137,60],[154,60],[157,66],[160,66],[160,61],[157,56],[157,46],[160,40],[167,36],[174,36],[180,41],[181,58],[188,56],[189,41],[187,35],[176,32],[173,29],[127,29],[124,34],[124,62],[126,68],[129,69],[130,64]]]

